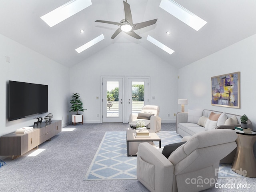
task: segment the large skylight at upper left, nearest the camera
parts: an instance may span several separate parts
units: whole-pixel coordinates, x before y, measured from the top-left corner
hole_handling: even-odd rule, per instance
[[[92,5],[91,0],[71,0],[41,17],[50,27]]]

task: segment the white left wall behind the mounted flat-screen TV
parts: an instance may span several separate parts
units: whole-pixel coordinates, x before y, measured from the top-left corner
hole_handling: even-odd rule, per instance
[[[14,132],[17,128],[32,126],[36,116],[53,114],[53,119],[68,123],[70,92],[69,70],[41,54],[0,35],[0,136]],[[10,63],[6,62],[10,57]],[[7,84],[8,80],[48,85],[48,113],[29,116],[8,122]]]

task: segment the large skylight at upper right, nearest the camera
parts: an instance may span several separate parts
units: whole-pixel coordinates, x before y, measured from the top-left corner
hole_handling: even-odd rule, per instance
[[[207,23],[173,0],[161,0],[159,6],[196,31],[200,30]]]

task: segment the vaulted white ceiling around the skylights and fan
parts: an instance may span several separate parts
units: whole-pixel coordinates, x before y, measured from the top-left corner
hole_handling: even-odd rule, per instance
[[[91,6],[53,27],[40,18],[68,1],[0,0],[0,34],[68,67],[111,44],[117,44],[122,49],[127,43],[133,43],[177,68],[256,34],[255,0],[176,0],[207,21],[199,31],[160,8],[161,0],[128,0],[133,23],[158,18],[155,25],[135,31],[142,37],[140,40],[124,32],[112,40],[110,37],[118,26],[95,22],[120,22],[124,18],[123,0],[91,0]],[[81,29],[84,29],[83,34]],[[167,35],[167,31],[171,34]],[[104,40],[80,54],[75,51],[101,34]],[[146,40],[148,35],[175,52],[171,55],[164,52]],[[114,52],[110,60],[112,56],[115,56]]]

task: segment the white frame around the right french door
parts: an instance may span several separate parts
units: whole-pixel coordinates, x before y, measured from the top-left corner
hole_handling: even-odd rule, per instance
[[[126,114],[126,118],[124,119],[124,122],[125,123],[128,123],[129,121],[129,116],[130,114],[128,114],[128,99],[129,99],[129,96],[128,96],[128,84],[129,84],[129,79],[132,78],[132,79],[148,79],[148,105],[150,105],[150,77],[149,76],[127,76],[126,77],[126,87],[125,87],[125,90],[126,90],[126,104],[125,104],[125,114]]]

